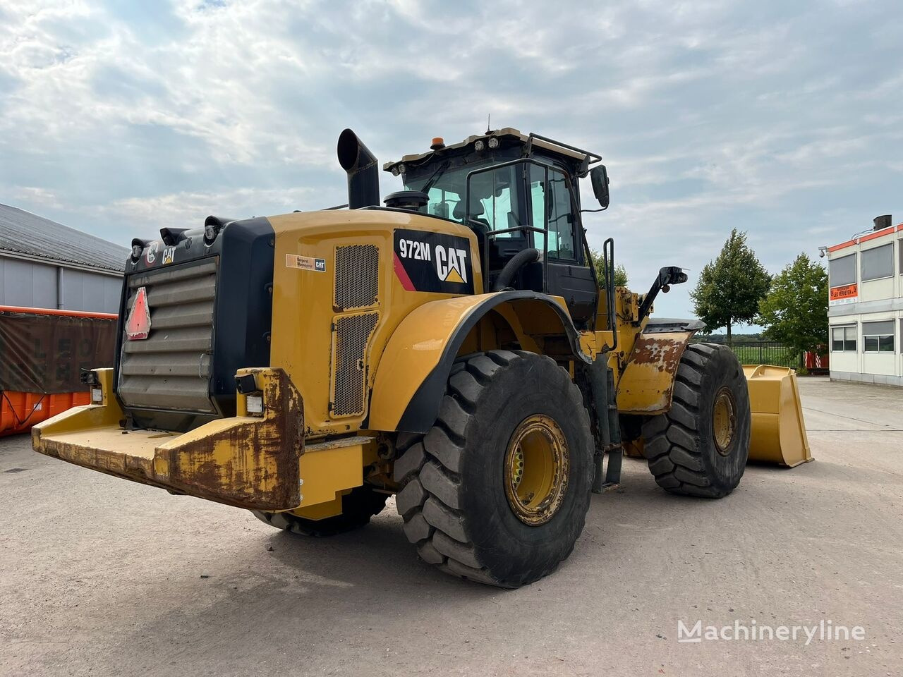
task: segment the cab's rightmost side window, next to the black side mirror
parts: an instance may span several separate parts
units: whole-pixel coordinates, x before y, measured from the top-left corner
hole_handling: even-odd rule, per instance
[[[576,219],[564,173],[551,168],[546,172],[545,167],[530,165],[530,201],[534,227],[543,227],[548,218],[548,257],[576,261]],[[534,246],[543,249],[545,234],[534,233]]]

